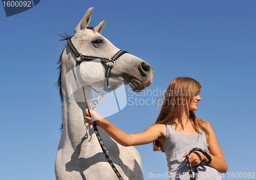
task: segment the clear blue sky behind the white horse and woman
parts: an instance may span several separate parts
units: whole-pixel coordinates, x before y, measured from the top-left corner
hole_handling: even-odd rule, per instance
[[[229,178],[232,172],[255,173],[255,1],[42,0],[10,17],[0,5],[0,179],[55,179],[61,135],[55,70],[66,46],[57,33],[72,35],[90,7],[92,26],[106,18],[102,35],[154,68],[145,91],[166,89],[179,76],[201,83],[196,114],[214,128]],[[137,97],[125,88],[127,98]],[[143,101],[157,96],[137,98],[141,104],[128,101],[108,120],[127,133],[153,124],[156,105]],[[152,144],[136,148],[144,179],[168,171],[165,154],[153,152]]]

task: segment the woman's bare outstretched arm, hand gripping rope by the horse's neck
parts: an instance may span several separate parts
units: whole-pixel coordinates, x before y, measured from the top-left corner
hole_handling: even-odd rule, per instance
[[[95,118],[95,120],[97,121],[92,121],[90,114],[92,115],[92,118]],[[113,138],[122,146],[136,146],[148,144],[156,140],[165,138],[166,136],[166,128],[164,124],[154,124],[141,133],[127,134],[126,132],[114,126],[108,120],[102,118],[94,110],[90,110],[90,114],[88,112],[88,109],[86,109],[87,116],[84,118],[87,120],[87,123],[89,123],[89,125],[93,125],[94,123],[96,123],[97,126],[101,127],[106,133],[109,134],[111,138]]]

